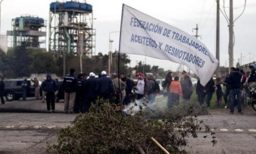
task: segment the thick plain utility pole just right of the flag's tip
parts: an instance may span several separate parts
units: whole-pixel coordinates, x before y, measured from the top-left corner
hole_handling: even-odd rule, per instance
[[[217,21],[216,21],[216,59],[219,61],[219,0],[217,0]],[[219,64],[216,69],[216,76],[220,77]]]

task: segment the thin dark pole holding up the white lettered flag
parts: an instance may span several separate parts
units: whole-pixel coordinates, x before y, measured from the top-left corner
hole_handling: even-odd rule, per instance
[[[118,49],[118,87],[119,87],[119,102],[120,102],[121,115],[123,115],[123,102],[121,99],[121,90],[120,90],[120,44],[121,44],[122,24],[123,24],[123,7],[124,7],[124,4],[122,6],[120,34],[119,34],[119,49]]]

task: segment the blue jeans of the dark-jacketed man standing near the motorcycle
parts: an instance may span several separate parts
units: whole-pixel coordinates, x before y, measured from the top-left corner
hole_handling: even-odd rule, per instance
[[[231,100],[231,104],[230,104],[230,113],[234,113],[234,106],[235,106],[235,101],[236,101],[236,96],[238,99],[238,112],[241,112],[241,89],[231,89],[230,90],[230,100]]]

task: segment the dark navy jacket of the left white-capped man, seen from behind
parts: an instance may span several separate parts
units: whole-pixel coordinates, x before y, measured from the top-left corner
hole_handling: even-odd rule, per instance
[[[85,81],[85,97],[86,98],[95,98],[98,96],[98,79],[91,76],[89,79]]]

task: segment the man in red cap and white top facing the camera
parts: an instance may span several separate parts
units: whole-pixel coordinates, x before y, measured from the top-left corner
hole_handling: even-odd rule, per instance
[[[138,72],[137,75],[138,81],[136,84],[136,94],[137,100],[142,99],[145,94],[146,89],[146,78],[143,77],[143,73]]]

